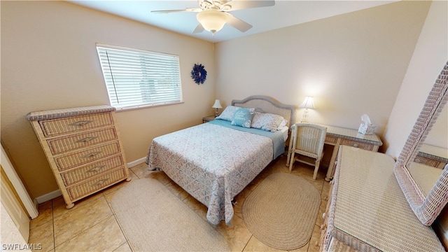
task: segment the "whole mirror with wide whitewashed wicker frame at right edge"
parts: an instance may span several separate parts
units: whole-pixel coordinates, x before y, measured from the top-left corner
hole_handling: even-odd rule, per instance
[[[443,164],[423,160],[442,158],[447,148],[444,142],[447,141],[447,109],[444,109],[448,99],[447,80],[448,63],[435,80],[394,167],[400,188],[423,225],[431,225],[448,202],[448,167],[443,169]],[[440,125],[436,123],[439,116]],[[440,150],[442,154],[438,153]]]

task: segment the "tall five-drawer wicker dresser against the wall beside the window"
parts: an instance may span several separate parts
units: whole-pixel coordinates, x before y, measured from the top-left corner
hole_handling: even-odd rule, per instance
[[[119,181],[130,181],[115,108],[88,106],[27,114],[66,208]]]

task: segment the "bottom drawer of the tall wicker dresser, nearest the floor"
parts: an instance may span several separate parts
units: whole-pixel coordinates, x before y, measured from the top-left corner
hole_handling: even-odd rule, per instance
[[[69,197],[71,200],[75,201],[86,195],[90,195],[91,193],[96,192],[97,190],[101,190],[106,188],[107,186],[111,186],[113,183],[118,181],[122,181],[126,179],[125,169],[118,169],[116,171],[110,172],[108,174],[104,174],[103,176],[99,176],[91,181],[87,181],[78,186],[73,186],[72,188],[68,188],[67,192],[69,193]]]

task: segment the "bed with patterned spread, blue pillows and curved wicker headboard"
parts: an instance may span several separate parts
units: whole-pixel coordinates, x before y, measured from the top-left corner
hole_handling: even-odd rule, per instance
[[[237,116],[241,113],[251,122]],[[146,157],[148,169],[161,169],[207,206],[209,223],[230,225],[233,198],[284,153],[296,113],[296,106],[271,97],[232,100],[216,120],[154,138]]]

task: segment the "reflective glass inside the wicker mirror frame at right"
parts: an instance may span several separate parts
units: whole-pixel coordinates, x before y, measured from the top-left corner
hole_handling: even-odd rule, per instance
[[[428,196],[442,170],[448,163],[448,106],[443,106],[433,127],[429,130],[416,157],[407,168],[423,195]]]

